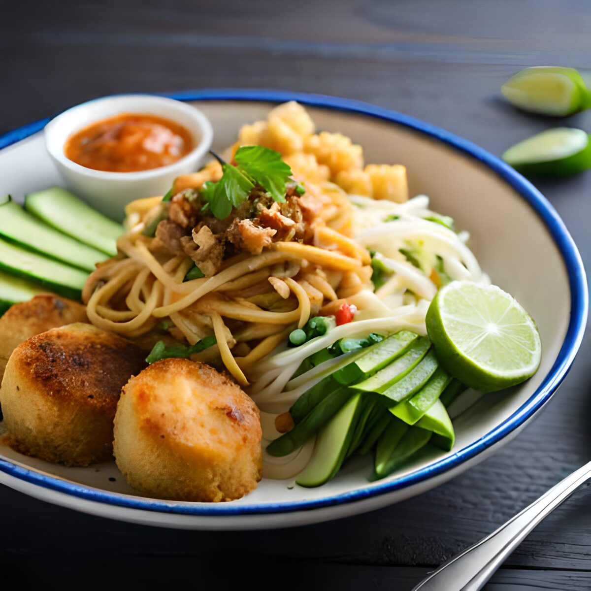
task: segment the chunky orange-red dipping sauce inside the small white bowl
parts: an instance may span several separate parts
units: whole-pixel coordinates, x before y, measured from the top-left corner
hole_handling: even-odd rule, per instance
[[[111,173],[132,173],[173,164],[193,150],[190,132],[157,117],[123,113],[100,119],[71,135],[66,158]]]

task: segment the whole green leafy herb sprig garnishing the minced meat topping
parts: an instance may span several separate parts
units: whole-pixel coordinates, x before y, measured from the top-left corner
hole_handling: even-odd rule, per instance
[[[277,202],[285,202],[285,183],[291,176],[291,168],[281,160],[281,154],[262,146],[242,146],[234,155],[236,166],[223,162],[223,176],[217,183],[205,183],[203,200],[209,204],[213,215],[223,219],[230,215],[232,207],[238,207],[248,199],[259,185]]]

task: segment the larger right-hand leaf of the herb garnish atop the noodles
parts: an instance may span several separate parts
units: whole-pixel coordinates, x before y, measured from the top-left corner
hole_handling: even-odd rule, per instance
[[[291,168],[281,160],[279,152],[263,146],[241,146],[234,160],[275,201],[285,202],[285,183],[291,176]]]

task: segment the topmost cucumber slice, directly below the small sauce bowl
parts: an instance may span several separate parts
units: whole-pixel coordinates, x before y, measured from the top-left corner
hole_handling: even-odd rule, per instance
[[[70,191],[52,187],[25,197],[25,209],[53,228],[115,256],[123,226],[92,209]]]

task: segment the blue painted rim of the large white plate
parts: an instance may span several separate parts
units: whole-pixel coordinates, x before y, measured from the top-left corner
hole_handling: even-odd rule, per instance
[[[457,451],[452,456],[437,460],[428,466],[415,470],[414,472],[395,480],[372,483],[372,485],[366,486],[362,489],[356,489],[355,491],[326,498],[310,499],[309,501],[285,501],[251,505],[232,503],[177,503],[171,501],[157,501],[153,499],[148,500],[135,496],[126,496],[119,493],[88,488],[83,485],[66,482],[58,478],[53,478],[51,476],[34,472],[33,470],[16,466],[6,460],[0,460],[0,471],[20,480],[33,483],[34,485],[67,493],[68,495],[77,496],[82,499],[87,499],[88,501],[119,505],[132,509],[144,509],[148,511],[161,511],[186,515],[212,515],[218,517],[306,511],[383,495],[402,488],[407,488],[408,486],[415,485],[423,480],[447,472],[504,439],[504,437],[511,433],[511,431],[514,431],[522,423],[528,420],[528,418],[534,415],[548,400],[550,400],[550,397],[554,394],[569,372],[570,366],[574,361],[574,357],[579,350],[580,343],[583,339],[588,307],[587,280],[579,251],[577,251],[573,239],[566,229],[566,226],[564,226],[564,222],[560,219],[556,210],[554,210],[554,207],[551,206],[540,191],[535,189],[529,181],[518,174],[513,168],[509,167],[496,156],[483,150],[478,145],[435,125],[430,125],[415,119],[414,117],[402,115],[401,113],[370,105],[358,100],[299,92],[255,89],[187,90],[185,92],[176,93],[159,93],[158,96],[167,96],[168,98],[183,101],[243,100],[278,103],[287,100],[297,100],[304,105],[354,113],[356,115],[365,115],[374,119],[381,119],[393,124],[402,125],[413,129],[416,132],[427,135],[428,137],[438,139],[444,144],[480,161],[486,167],[498,174],[498,176],[503,178],[506,183],[513,187],[530,204],[537,215],[540,216],[545,223],[548,232],[550,232],[550,235],[563,256],[564,264],[569,275],[571,315],[569,328],[564,337],[564,342],[558,353],[556,362],[554,362],[554,365],[545,376],[540,387],[537,388],[534,394],[532,394],[531,397],[524,402],[517,411],[515,411],[515,413],[469,446]],[[4,135],[0,135],[0,150],[41,131],[51,119],[51,117],[40,119],[18,129],[14,129],[13,131],[9,131]]]

